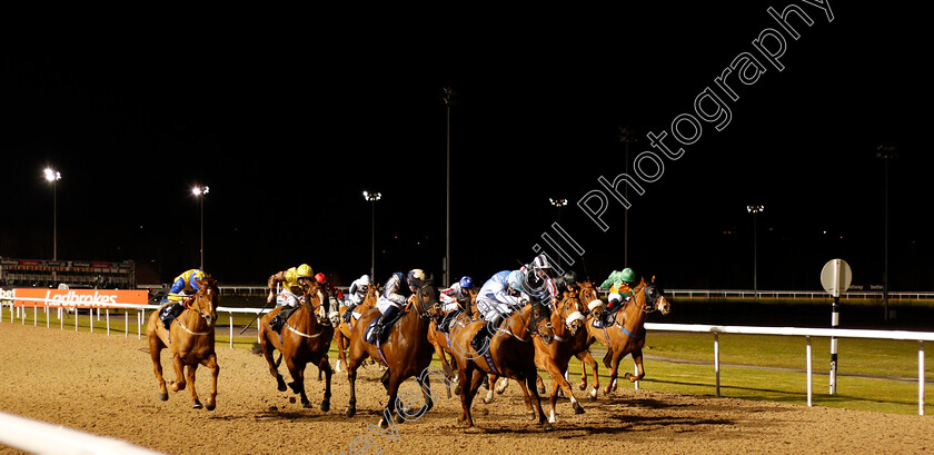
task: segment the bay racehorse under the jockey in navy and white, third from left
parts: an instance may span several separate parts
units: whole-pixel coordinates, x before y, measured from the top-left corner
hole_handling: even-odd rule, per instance
[[[440,314],[439,293],[431,277],[425,280],[414,278],[413,281],[417,288],[415,294],[409,297],[409,303],[399,319],[386,328],[389,330],[388,335],[379,336],[376,345],[366,340],[365,332],[369,323],[380,316],[379,309],[369,309],[355,324],[347,359],[347,380],[350,383],[350,400],[345,411],[347,417],[357,414],[357,368],[367,357],[379,359],[387,366],[380,382],[386,387],[389,399],[382,409],[382,418],[379,419],[380,427],[389,426],[389,419],[396,413],[399,386],[409,377],[417,377],[425,405],[414,414],[409,413],[411,409],[399,409],[396,413],[396,422],[421,417],[434,406],[429,375],[426,374],[434,353],[431,344],[428,343],[428,324],[433,317]],[[382,338],[386,340],[382,342]]]

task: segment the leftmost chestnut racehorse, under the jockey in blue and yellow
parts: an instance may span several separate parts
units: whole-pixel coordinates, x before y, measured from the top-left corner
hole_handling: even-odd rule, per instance
[[[198,286],[198,291],[183,301],[185,309],[172,320],[168,330],[159,318],[160,311],[153,311],[149,316],[146,332],[149,334],[149,356],[152,358],[156,379],[159,382],[159,399],[163,402],[169,399],[166,379],[162,377],[161,362],[162,349],[168,347],[172,355],[172,366],[176,373],[172,392],[185,389],[186,376],[183,369],[187,366],[187,378],[190,383],[188,386],[191,390],[195,409],[201,408],[201,402],[195,390],[195,372],[198,369],[198,364],[211,369],[211,394],[208,396],[208,404],[205,408],[212,411],[217,405],[217,375],[220,373],[220,367],[217,365],[217,354],[215,354],[215,323],[217,322],[219,291],[217,280],[210,275],[199,280]]]

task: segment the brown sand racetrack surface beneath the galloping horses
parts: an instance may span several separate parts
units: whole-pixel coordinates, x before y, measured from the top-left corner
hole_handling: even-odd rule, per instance
[[[324,383],[315,380],[317,369],[309,368],[306,385],[315,407],[305,409],[290,403],[291,393],[276,390],[260,356],[218,346],[218,405],[208,412],[191,408],[188,390],[170,393],[168,402],[156,398],[145,336],[108,337],[4,322],[0,339],[0,411],[171,454],[349,454],[355,438],[367,442],[361,435],[375,444],[369,453],[376,453],[378,445],[385,454],[934,451],[934,421],[926,416],[632,389],[608,398],[600,395],[595,403],[582,400],[583,415],[574,415],[568,402],[560,399],[556,427],[546,433],[523,417],[521,393],[511,385],[490,405],[475,402],[474,416],[483,431],[468,433],[456,425],[459,398],[446,399],[437,382],[434,389],[441,399],[423,418],[398,425],[393,441],[368,428],[386,402],[374,367],[360,372],[358,414],[348,419],[342,414],[348,399],[346,374],[335,375],[331,409],[322,413],[317,405]],[[171,379],[175,373],[167,353],[162,365]],[[280,372],[288,377],[285,366]],[[210,386],[206,368],[199,368],[197,386],[203,402]],[[417,387],[408,382],[403,389]],[[543,405],[547,412],[547,403]],[[0,454],[19,453],[0,444]]]

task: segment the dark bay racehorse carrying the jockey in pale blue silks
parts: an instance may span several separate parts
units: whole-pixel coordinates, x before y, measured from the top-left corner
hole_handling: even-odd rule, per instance
[[[538,299],[534,299],[519,311],[509,315],[501,327],[495,328],[496,335],[481,349],[483,353],[474,350],[470,340],[483,325],[487,324],[486,322],[470,323],[453,330],[451,344],[458,353],[455,359],[460,377],[460,423],[465,423],[468,428],[474,426],[470,406],[484,378],[493,374],[518,382],[523,388],[526,412],[533,419],[537,412],[538,423],[541,424],[543,429],[552,429],[552,425],[545,418],[545,412],[541,411],[541,399],[535,387],[537,373],[535,346],[531,343],[533,334],[541,337],[545,344],[552,343],[554,334],[550,316],[552,311],[548,307]],[[531,396],[529,396],[529,389],[531,389]],[[533,409],[531,398],[535,398],[535,409]]]

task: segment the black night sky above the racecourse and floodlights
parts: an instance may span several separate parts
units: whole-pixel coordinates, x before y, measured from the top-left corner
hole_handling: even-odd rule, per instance
[[[767,11],[788,4],[813,20],[788,19],[797,40]],[[755,249],[759,289],[819,289],[833,258],[854,284],[881,285],[886,144],[898,154],[890,286],[931,290],[927,26],[906,7],[831,10],[833,21],[803,1],[544,2],[39,21],[0,57],[0,256],[51,258],[51,166],[62,174],[59,259],[132,259],[143,283],[196,267],[200,184],[206,269],[221,284],[308,263],[347,285],[370,265],[369,189],[382,194],[377,279],[416,267],[440,276],[451,87],[455,276],[481,281],[527,263],[536,244],[553,254],[540,236],[557,238],[558,216],[585,250],[572,253],[575,271],[603,280],[623,268],[623,207],[608,198],[603,231],[577,202],[600,176],[627,171],[627,126],[639,131],[630,174],[643,151],[664,165],[647,165],[657,179],[629,194],[637,274],[668,288],[751,289]],[[753,43],[769,28],[785,40],[782,71]],[[743,52],[765,70],[751,85],[728,76],[733,100],[715,79]],[[731,118],[722,130],[700,120],[682,146],[673,120],[698,118],[707,88]],[[678,159],[649,145],[662,131],[684,148]],[[558,214],[548,198],[570,204]],[[755,244],[753,204],[765,206]]]

